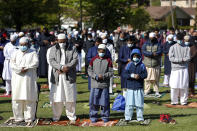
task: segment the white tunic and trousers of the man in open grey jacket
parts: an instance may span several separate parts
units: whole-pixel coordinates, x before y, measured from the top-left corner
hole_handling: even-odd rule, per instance
[[[61,65],[65,65],[65,51],[61,48]],[[70,83],[66,80],[66,74],[59,75],[58,85],[54,85],[50,91],[50,101],[52,101],[53,120],[58,121],[62,114],[62,109],[65,104],[66,115],[69,120],[76,120],[76,83]]]

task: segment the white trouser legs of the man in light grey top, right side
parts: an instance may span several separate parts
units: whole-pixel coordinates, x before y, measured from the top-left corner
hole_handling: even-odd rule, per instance
[[[171,104],[178,104],[178,97],[180,97],[181,105],[187,104],[188,88],[171,88]]]

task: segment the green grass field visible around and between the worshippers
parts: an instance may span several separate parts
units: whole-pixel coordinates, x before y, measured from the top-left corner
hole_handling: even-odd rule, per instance
[[[162,78],[161,78],[162,81]],[[39,83],[46,82],[46,79],[39,79]],[[114,89],[114,92],[120,90],[120,81],[118,78],[115,79],[115,83],[118,83],[118,87]],[[166,92],[169,88],[160,88],[160,92]],[[87,80],[82,79],[81,76],[77,78],[77,116],[80,119],[88,118],[88,83]],[[3,93],[3,90],[0,90]],[[111,102],[113,102],[111,99]],[[191,101],[196,101],[197,99],[190,99]],[[42,89],[40,92],[38,112],[37,116],[39,118],[51,118],[52,110],[51,108],[42,108],[45,102],[49,102],[49,90]],[[154,104],[155,102],[160,102],[161,105]],[[170,94],[167,93],[163,98],[145,98],[145,103],[149,106],[144,110],[145,119],[151,119],[152,122],[149,126],[124,126],[124,127],[74,127],[74,126],[36,126],[34,128],[0,128],[0,131],[49,131],[49,130],[67,130],[67,131],[167,131],[167,130],[177,130],[177,131],[196,131],[197,130],[197,109],[172,109],[166,108],[162,104],[170,102]],[[158,122],[160,114],[169,113],[173,119],[176,120],[176,125],[162,124]],[[4,118],[0,123],[3,123],[9,117],[12,116],[11,99],[10,98],[0,98],[0,116]],[[135,115],[134,115],[135,116]],[[63,112],[62,117],[65,117],[65,112]],[[121,119],[124,118],[123,113],[111,111],[110,118]]]

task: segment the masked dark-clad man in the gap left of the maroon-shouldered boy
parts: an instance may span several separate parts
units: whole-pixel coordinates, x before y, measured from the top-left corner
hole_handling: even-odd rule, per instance
[[[88,75],[88,66],[89,66],[89,62],[88,62],[88,50],[90,48],[92,48],[94,46],[94,41],[92,39],[92,34],[88,34],[88,40],[85,41],[85,43],[83,44],[83,50],[85,52],[85,74]]]

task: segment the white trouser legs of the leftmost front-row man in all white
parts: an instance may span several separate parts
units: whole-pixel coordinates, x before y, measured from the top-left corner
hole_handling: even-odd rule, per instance
[[[16,122],[23,120],[33,122],[36,114],[36,101],[12,101],[12,110]]]

